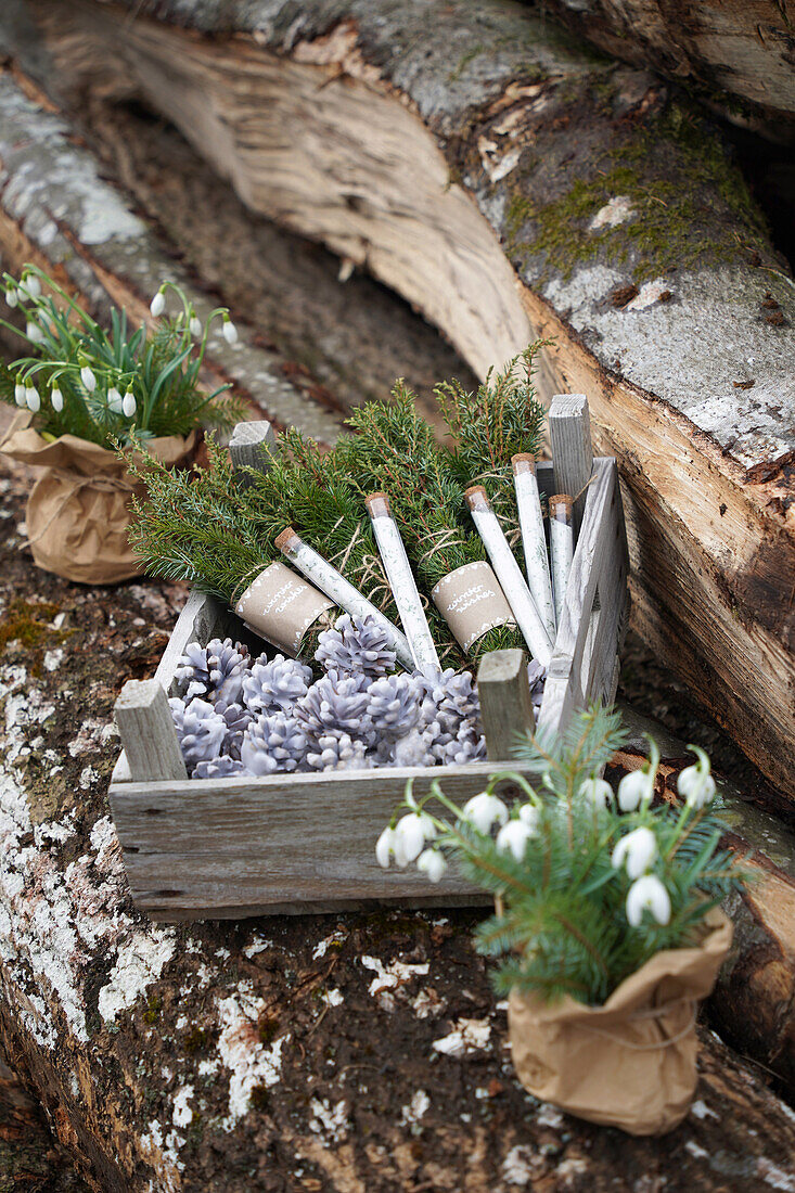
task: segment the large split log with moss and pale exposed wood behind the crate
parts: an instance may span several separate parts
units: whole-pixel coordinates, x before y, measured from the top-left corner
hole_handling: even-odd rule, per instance
[[[620,459],[636,626],[795,798],[793,283],[719,135],[503,0],[27,12],[60,93],[143,99],[480,375],[555,336],[542,390]]]

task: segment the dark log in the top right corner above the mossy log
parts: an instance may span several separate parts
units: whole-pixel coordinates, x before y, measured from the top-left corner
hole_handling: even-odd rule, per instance
[[[683,82],[774,141],[795,140],[795,36],[777,0],[546,0],[573,32]]]

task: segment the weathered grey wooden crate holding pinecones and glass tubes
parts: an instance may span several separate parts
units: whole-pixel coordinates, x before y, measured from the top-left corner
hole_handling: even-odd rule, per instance
[[[566,404],[568,403],[568,406]],[[538,728],[557,731],[591,700],[615,696],[627,613],[627,558],[616,462],[590,455],[587,406],[562,398],[550,410],[557,460],[538,464],[547,495],[579,493],[577,469],[591,477],[569,587],[549,667]],[[557,427],[555,413],[557,410]],[[579,410],[579,415],[578,415]],[[579,422],[578,422],[579,416]],[[562,443],[561,443],[562,437]],[[569,450],[587,446],[587,452]],[[561,462],[574,471],[566,476]],[[189,642],[249,641],[240,619],[193,593],[153,681],[132,685],[117,704],[125,746],[110,803],[132,897],[155,920],[228,919],[339,911],[363,905],[444,907],[487,903],[448,873],[430,883],[414,866],[382,870],[375,842],[400,803],[406,781],[418,796],[432,779],[461,803],[481,791],[494,762],[510,761],[517,729],[528,724],[522,651],[487,655],[479,672],[489,761],[435,768],[380,767],[340,774],[186,779],[166,693]],[[261,650],[261,642],[252,643]],[[524,711],[523,711],[524,710]],[[516,764],[512,764],[516,765]],[[179,775],[183,775],[179,778]],[[507,792],[510,795],[510,791]]]

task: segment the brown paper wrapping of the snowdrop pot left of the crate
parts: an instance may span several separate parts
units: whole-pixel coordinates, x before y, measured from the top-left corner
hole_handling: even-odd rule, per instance
[[[173,465],[185,462],[195,444],[196,432],[191,432],[187,439],[150,439],[147,450]],[[134,493],[142,496],[144,489],[127,474],[118,456],[76,435],[48,443],[32,427],[19,428],[18,424],[0,451],[23,464],[44,468],[30,492],[25,515],[39,568],[84,585],[113,585],[142,574],[127,532],[130,497]]]

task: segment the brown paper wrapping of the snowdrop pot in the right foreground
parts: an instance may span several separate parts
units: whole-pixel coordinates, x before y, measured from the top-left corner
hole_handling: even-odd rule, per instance
[[[732,944],[719,909],[701,946],[658,953],[602,1007],[572,997],[509,1000],[513,1067],[531,1094],[578,1118],[629,1135],[665,1135],[696,1089],[696,1012]]]

